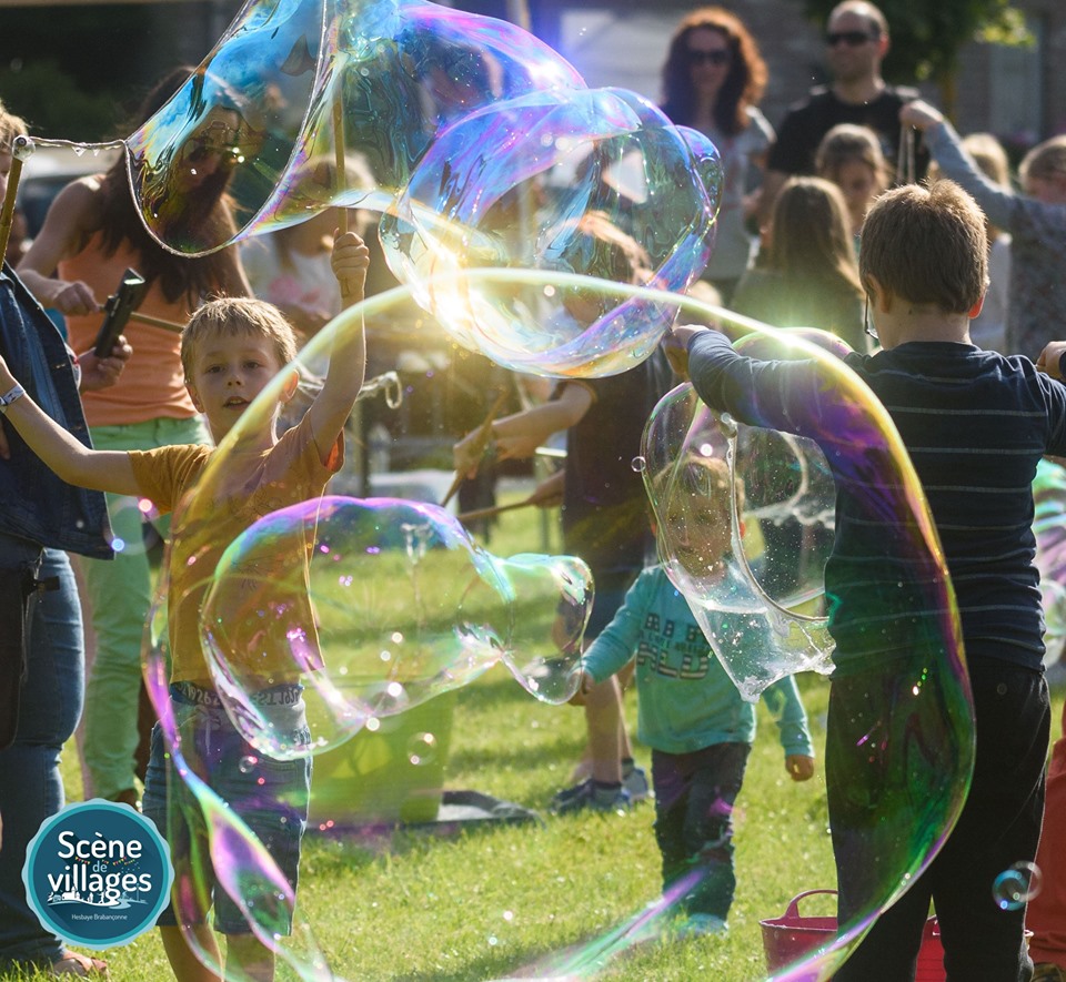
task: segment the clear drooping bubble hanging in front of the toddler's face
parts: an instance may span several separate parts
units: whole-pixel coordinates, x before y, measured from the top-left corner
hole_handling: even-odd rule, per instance
[[[835,490],[817,446],[737,427],[684,385],[655,407],[642,456],[660,560],[741,694],[831,671],[819,600]]]

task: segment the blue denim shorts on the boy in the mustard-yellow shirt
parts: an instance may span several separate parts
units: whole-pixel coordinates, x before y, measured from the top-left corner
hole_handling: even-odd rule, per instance
[[[270,705],[283,707],[290,738],[306,746],[311,735],[301,692],[300,686],[286,685],[260,695],[270,697]],[[295,893],[300,842],[308,824],[311,758],[275,760],[257,750],[234,728],[218,694],[211,689],[175,682],[170,687],[170,697],[185,763],[254,832]],[[213,897],[218,931],[223,934],[252,933],[240,908],[225,890],[214,889],[218,877],[208,853],[202,809],[177,775],[172,775],[168,788],[169,770],[167,745],[157,723],[152,730],[152,753],[144,779],[144,814],[170,843],[177,872],[175,893],[193,869],[198,883],[204,888],[202,893],[183,889],[177,895],[190,899],[182,905],[180,918],[173,905],[168,904],[159,915],[158,925],[175,927],[179,920],[183,924],[204,923],[207,909],[191,909],[191,898],[205,895]],[[257,904],[259,909],[262,907],[262,902]],[[292,911],[285,911],[284,904],[271,909],[278,913],[269,922],[264,921],[263,927],[272,933],[290,934]]]

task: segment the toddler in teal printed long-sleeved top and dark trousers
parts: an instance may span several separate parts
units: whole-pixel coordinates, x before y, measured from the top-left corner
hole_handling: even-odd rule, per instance
[[[730,483],[723,460],[694,457],[673,494],[683,512],[676,523],[677,558],[704,581],[721,577],[725,589],[733,575],[725,561]],[[581,684],[571,701],[580,705],[589,688],[634,655],[638,735],[652,748],[663,891],[683,893],[683,933],[720,932],[736,889],[733,806],[755,739],[755,706],[741,697],[662,566],[640,575],[614,619],[584,654]],[[795,680],[781,679],[764,698],[776,718],[786,770],[794,781],[808,780],[814,756]]]

